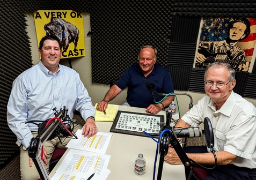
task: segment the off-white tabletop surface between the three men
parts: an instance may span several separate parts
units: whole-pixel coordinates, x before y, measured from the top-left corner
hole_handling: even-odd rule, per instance
[[[131,111],[131,112],[145,112],[143,108],[125,107],[119,106],[118,110]],[[165,111],[158,113],[159,115],[165,115]],[[173,116],[175,119],[178,115]],[[109,132],[112,126],[112,122],[96,122],[99,132]],[[108,180],[136,180],[136,179],[153,179],[153,167],[156,156],[157,143],[148,137],[133,136],[129,134],[113,133],[112,139],[107,148],[106,154],[111,155],[111,159],[108,163],[108,169],[111,170],[111,174],[108,176]],[[67,154],[68,151],[65,152]],[[144,155],[146,160],[146,172],[144,175],[136,175],[134,173],[134,161],[139,153]],[[54,172],[60,163],[63,161],[65,154],[61,160],[56,164],[49,177],[53,177]],[[159,152],[157,152],[157,163],[155,179],[158,174],[159,164]],[[164,162],[162,171],[162,180],[171,179],[186,179],[185,170],[183,165],[171,165]]]

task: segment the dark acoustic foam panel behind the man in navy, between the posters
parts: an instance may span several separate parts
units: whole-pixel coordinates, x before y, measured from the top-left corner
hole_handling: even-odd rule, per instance
[[[118,80],[144,45],[157,48],[157,63],[167,65],[172,2],[91,2],[93,83]]]

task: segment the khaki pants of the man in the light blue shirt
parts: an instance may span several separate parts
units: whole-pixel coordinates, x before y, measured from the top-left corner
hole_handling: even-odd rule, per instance
[[[75,125],[74,132],[76,132],[78,129],[82,129],[82,125],[80,124],[74,124],[74,125]],[[34,137],[36,137],[38,135],[38,132],[32,132],[32,134]],[[65,148],[65,146],[68,144],[69,141],[70,141],[70,138],[61,138],[61,142],[62,142],[61,144],[58,137],[55,137],[52,140],[47,140],[43,144],[43,148],[46,150],[48,154],[48,157],[47,157],[48,164],[46,164],[45,166],[48,174],[49,174],[50,159],[53,155],[55,147]],[[28,150],[24,150],[22,145],[20,146],[20,174],[21,174],[21,179],[25,179],[25,180],[40,179],[40,175],[38,173],[38,170],[35,167],[34,162],[32,164],[32,167],[30,167],[30,156],[28,156]]]

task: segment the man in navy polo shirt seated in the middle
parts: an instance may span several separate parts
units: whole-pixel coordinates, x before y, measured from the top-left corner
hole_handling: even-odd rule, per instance
[[[174,96],[167,96],[162,102],[155,103],[147,88],[147,82],[155,84],[158,93],[173,93],[173,84],[170,72],[163,66],[156,64],[157,50],[152,46],[143,46],[138,54],[138,64],[131,65],[120,79],[108,90],[104,99],[98,103],[97,109],[106,111],[107,104],[119,93],[128,87],[126,101],[123,106],[147,108],[146,112],[156,114],[160,110],[169,107]],[[156,95],[156,102],[163,99]]]

